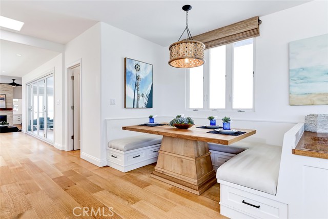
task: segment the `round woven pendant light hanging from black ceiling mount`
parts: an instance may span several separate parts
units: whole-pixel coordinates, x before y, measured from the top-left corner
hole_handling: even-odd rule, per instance
[[[194,68],[201,66],[205,63],[204,49],[205,45],[199,41],[194,41],[188,28],[188,11],[191,9],[190,5],[182,7],[183,11],[187,14],[186,29],[182,32],[181,36],[187,30],[188,38],[185,41],[180,41],[171,44],[170,61],[169,65],[176,68]],[[191,39],[191,40],[190,40]]]

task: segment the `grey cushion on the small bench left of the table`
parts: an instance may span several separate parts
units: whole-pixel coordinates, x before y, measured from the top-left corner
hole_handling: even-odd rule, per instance
[[[151,145],[157,145],[162,142],[162,136],[158,135],[139,135],[112,140],[108,143],[109,148],[120,151],[130,151]]]

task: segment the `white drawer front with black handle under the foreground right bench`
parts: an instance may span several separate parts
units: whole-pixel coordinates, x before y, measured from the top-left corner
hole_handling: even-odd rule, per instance
[[[288,205],[221,184],[221,205],[258,218],[287,218]]]

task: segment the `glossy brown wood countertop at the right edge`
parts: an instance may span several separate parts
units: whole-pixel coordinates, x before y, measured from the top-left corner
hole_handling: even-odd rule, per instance
[[[300,141],[292,153],[328,159],[328,133],[304,131]]]

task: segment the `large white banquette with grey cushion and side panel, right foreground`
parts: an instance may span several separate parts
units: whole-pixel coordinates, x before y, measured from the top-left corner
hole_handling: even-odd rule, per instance
[[[328,160],[292,154],[303,132],[299,123],[282,147],[256,144],[217,169],[222,215],[328,218]]]

